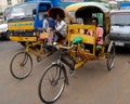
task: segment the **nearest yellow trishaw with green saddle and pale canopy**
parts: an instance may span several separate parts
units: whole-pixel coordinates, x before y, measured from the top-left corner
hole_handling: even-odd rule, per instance
[[[79,3],[77,3],[78,5]],[[68,84],[66,64],[69,67],[69,73],[75,74],[75,70],[81,67],[87,61],[105,60],[107,69],[114,67],[115,62],[115,44],[109,40],[109,9],[103,3],[80,3],[81,6],[75,11],[76,18],[82,18],[83,24],[70,24],[67,28],[66,44],[56,46],[60,50],[57,61],[53,62],[43,72],[39,82],[39,98],[46,104],[55,102],[62,94],[65,84]],[[84,34],[86,30],[93,30],[95,35],[95,26],[91,25],[91,17],[96,16],[100,21],[100,26],[104,29],[104,44],[101,51],[102,58],[95,55],[96,39],[95,36]],[[92,46],[92,52],[86,49],[84,44]]]

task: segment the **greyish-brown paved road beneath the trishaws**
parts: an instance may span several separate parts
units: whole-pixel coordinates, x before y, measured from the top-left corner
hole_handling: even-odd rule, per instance
[[[17,42],[0,41],[0,104],[42,104],[38,96],[38,83],[50,62],[49,58],[37,63],[34,58],[31,75],[17,80],[10,74],[12,56],[23,50]],[[125,49],[123,49],[125,50]],[[130,104],[130,49],[116,52],[116,63],[107,72],[105,61],[88,62],[77,70],[77,78],[69,76],[69,86],[55,104]]]

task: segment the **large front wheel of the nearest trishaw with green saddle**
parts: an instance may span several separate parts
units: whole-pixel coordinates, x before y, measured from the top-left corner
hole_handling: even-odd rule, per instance
[[[43,103],[50,104],[55,102],[65,88],[64,67],[52,64],[43,73],[39,83],[39,98]]]

